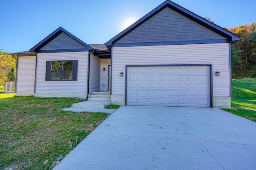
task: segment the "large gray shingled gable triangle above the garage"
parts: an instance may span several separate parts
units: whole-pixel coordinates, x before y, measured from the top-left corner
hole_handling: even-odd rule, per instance
[[[150,43],[226,39],[169,7],[164,8],[116,43]]]

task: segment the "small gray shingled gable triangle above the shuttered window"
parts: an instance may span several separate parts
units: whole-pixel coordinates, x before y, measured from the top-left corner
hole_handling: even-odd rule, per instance
[[[65,50],[65,49],[85,49],[86,47],[62,32],[52,41],[44,45],[40,50]]]

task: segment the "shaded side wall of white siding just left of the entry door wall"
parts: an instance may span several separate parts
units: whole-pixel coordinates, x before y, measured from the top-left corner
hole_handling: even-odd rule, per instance
[[[89,94],[100,90],[100,58],[91,54]]]

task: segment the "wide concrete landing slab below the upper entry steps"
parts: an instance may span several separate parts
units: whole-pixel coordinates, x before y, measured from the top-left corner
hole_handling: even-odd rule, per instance
[[[74,103],[73,107],[85,107],[85,108],[105,108],[105,106],[110,105],[110,101],[84,101],[79,103]]]

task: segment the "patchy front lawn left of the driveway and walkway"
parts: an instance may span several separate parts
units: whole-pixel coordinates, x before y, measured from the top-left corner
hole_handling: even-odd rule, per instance
[[[52,169],[108,117],[61,111],[78,99],[14,95],[0,94],[0,169]]]

